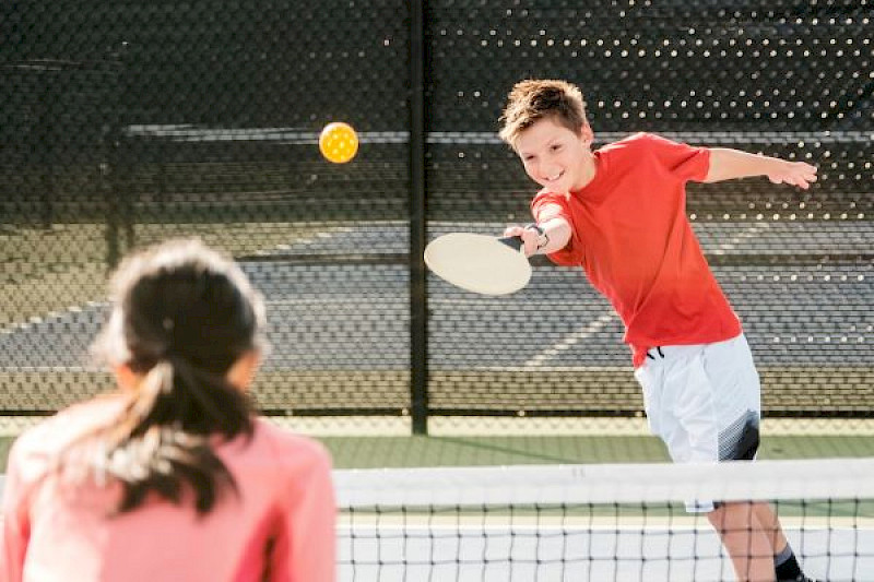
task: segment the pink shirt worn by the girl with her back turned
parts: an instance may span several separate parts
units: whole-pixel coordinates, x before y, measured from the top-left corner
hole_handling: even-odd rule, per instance
[[[255,420],[251,440],[216,448],[239,496],[227,491],[201,516],[190,503],[150,498],[108,518],[117,484],[83,485],[80,478],[71,487],[51,463],[71,439],[106,423],[119,404],[118,397],[102,397],[73,406],[15,441],[3,494],[0,580],[335,579],[330,456],[319,443],[263,419]]]

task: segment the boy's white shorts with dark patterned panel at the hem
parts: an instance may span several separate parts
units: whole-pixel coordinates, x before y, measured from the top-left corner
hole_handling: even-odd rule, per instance
[[[650,430],[675,462],[755,459],[761,388],[743,333],[712,344],[654,347],[635,378]],[[697,511],[711,509],[705,503]]]

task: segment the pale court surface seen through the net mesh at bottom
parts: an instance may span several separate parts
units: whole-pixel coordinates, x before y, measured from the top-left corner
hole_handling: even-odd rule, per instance
[[[379,544],[359,541],[341,530],[340,579],[344,581],[579,582],[579,581],[722,581],[733,580],[731,562],[721,556],[716,533],[699,525],[536,524],[530,527],[483,527],[468,524],[417,526],[404,531],[381,526]],[[854,547],[874,547],[874,525],[828,531],[786,528],[793,547],[804,548],[805,571],[818,579],[874,580],[874,558],[853,559]],[[367,534],[357,531],[356,535]],[[370,532],[373,534],[373,532]],[[347,537],[349,536],[349,537]],[[356,565],[359,559],[380,565]],[[511,560],[507,557],[511,556]],[[670,556],[670,559],[668,559]],[[815,557],[820,556],[820,557]],[[405,562],[405,563],[403,563]],[[403,563],[403,566],[401,566]]]

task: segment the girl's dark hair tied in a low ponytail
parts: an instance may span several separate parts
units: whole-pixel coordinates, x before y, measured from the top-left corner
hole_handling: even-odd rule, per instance
[[[119,512],[154,492],[176,503],[193,497],[206,513],[224,489],[236,490],[213,439],[253,429],[249,401],[227,372],[261,347],[263,302],[232,260],[196,240],[130,257],[111,289],[94,351],[142,380],[115,421],[88,436],[97,444],[88,459],[98,478],[121,483]]]

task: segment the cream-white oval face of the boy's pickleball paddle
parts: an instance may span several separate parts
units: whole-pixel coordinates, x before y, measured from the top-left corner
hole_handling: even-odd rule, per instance
[[[425,247],[425,264],[457,287],[483,295],[507,295],[528,285],[531,264],[519,237],[452,233]]]

